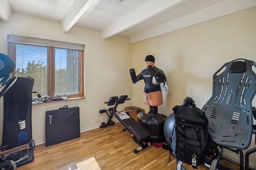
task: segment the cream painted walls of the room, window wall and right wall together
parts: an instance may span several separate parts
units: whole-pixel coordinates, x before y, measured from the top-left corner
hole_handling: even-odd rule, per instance
[[[81,131],[107,121],[99,110],[107,108],[104,102],[110,96],[128,95],[132,99],[118,110],[135,105],[147,112],[149,107],[143,103],[144,82],[132,84],[128,70],[134,68],[140,73],[149,54],[155,56],[156,67],[163,69],[168,78],[168,91],[163,91],[164,104],[158,107],[159,113],[168,116],[172,107],[180,105],[187,96],[202,108],[212,95],[212,75],[224,63],[237,58],[256,61],[255,16],[256,8],[252,8],[130,45],[124,36],[102,40],[100,32],[78,26],[63,33],[58,22],[13,14],[10,22],[0,22],[0,52],[7,54],[7,34],[85,44],[86,99],[33,105],[32,134],[36,144],[40,144],[45,141],[45,112],[64,105],[80,107]],[[253,105],[256,106],[255,100]],[[1,114],[2,109],[0,117]],[[92,119],[95,126],[90,125]],[[226,154],[238,159],[238,155]],[[255,154],[250,158],[256,167]]]

